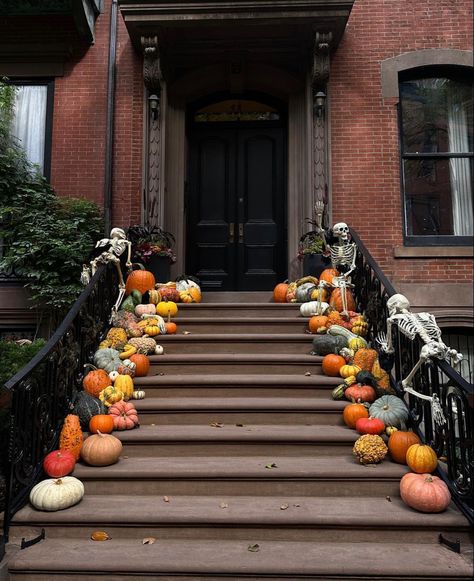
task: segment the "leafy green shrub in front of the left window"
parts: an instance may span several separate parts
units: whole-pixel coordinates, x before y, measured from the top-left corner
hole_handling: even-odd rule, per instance
[[[35,304],[62,316],[83,289],[88,262],[103,223],[92,202],[59,198],[9,134],[11,93],[0,83],[0,269],[27,280]]]

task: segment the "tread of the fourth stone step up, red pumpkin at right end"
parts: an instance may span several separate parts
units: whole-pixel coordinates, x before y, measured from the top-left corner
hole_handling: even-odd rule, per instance
[[[138,442],[324,442],[352,444],[359,434],[345,426],[331,425],[143,425],[139,429],[114,432],[127,444]]]

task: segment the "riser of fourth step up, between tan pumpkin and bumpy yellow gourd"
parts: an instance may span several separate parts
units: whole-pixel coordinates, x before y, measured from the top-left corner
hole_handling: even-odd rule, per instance
[[[242,428],[245,430],[245,428]],[[219,428],[216,428],[216,431]],[[354,437],[354,441],[356,437]],[[129,458],[173,458],[182,456],[334,456],[352,449],[353,443],[286,443],[286,442],[178,442],[131,444],[123,442],[123,455]]]

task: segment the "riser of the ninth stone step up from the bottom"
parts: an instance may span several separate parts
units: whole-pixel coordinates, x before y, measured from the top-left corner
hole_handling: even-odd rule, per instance
[[[209,322],[186,318],[185,321],[176,319],[178,333],[189,331],[191,333],[305,333],[308,324],[305,319],[294,321],[281,321],[278,318],[268,317],[268,321],[219,321]]]

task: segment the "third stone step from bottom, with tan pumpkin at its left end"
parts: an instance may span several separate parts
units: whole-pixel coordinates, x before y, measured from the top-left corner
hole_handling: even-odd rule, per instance
[[[76,464],[73,476],[86,494],[399,496],[406,466],[390,461],[376,467],[355,461],[351,446],[334,456],[130,457],[96,468]],[[275,464],[276,467],[266,468]]]

